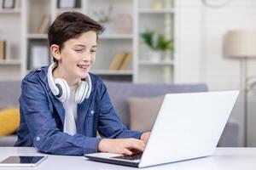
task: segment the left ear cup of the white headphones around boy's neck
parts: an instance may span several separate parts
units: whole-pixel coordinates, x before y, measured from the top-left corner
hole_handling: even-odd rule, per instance
[[[55,86],[59,88],[60,91],[60,93],[56,95],[56,98],[59,99],[62,103],[67,101],[70,96],[70,88],[68,87],[67,82],[62,78],[56,78]]]

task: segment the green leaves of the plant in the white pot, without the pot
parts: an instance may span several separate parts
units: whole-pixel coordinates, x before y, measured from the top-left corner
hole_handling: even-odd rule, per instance
[[[140,33],[140,37],[143,42],[153,50],[173,50],[173,40],[167,40],[162,34],[156,34],[154,31],[144,31]]]

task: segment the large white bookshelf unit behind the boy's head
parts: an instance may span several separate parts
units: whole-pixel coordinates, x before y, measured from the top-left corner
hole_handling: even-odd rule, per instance
[[[2,22],[8,22],[16,36],[9,36],[8,41],[12,49],[7,49],[6,60],[0,61],[0,71],[8,79],[10,70],[15,77],[21,79],[32,70],[33,48],[47,47],[47,33],[38,33],[44,14],[49,15],[49,23],[55,20],[58,14],[66,11],[77,11],[88,14],[98,20],[96,13],[107,12],[111,6],[111,20],[103,23],[106,27],[98,40],[96,63],[91,72],[103,80],[129,82],[174,82],[176,68],[175,54],[166,53],[165,59],[152,61],[148,58],[148,48],[139,37],[145,29],[158,31],[168,38],[175,39],[175,0],[77,0],[73,8],[58,8],[58,0],[17,0],[19,3],[13,9],[0,8],[0,28]],[[161,7],[155,8],[154,3]],[[9,24],[10,23],[10,24]],[[154,25],[152,25],[154,23]],[[7,26],[8,26],[7,25]],[[9,28],[4,28],[9,30]],[[19,31],[17,31],[19,30]],[[12,31],[12,29],[10,29]],[[2,36],[2,37],[1,37]],[[0,32],[0,40],[4,39]],[[12,52],[14,51],[14,52]],[[130,51],[131,63],[125,70],[109,70],[109,65],[115,54]],[[13,53],[13,54],[12,54]],[[44,54],[51,62],[51,57]],[[46,59],[47,60],[47,59]],[[48,63],[48,64],[49,64]],[[2,77],[1,77],[2,78]]]

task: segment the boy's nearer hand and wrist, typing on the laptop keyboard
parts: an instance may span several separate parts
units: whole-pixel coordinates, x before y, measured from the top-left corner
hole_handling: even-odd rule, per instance
[[[136,152],[143,152],[145,143],[139,139],[102,139],[98,145],[98,150],[115,154],[125,154],[131,156]]]

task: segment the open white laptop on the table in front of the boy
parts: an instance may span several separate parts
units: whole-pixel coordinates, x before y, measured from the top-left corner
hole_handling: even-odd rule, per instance
[[[238,94],[238,91],[166,94],[143,154],[122,156],[99,152],[84,156],[92,161],[131,167],[211,156]]]

